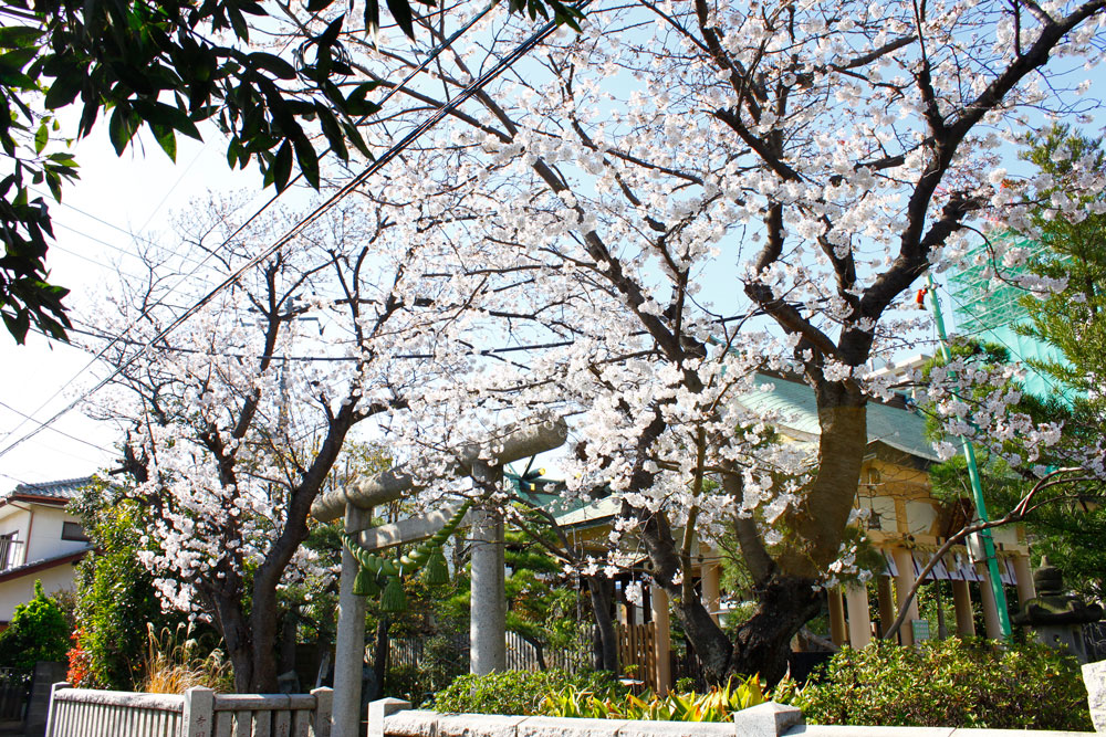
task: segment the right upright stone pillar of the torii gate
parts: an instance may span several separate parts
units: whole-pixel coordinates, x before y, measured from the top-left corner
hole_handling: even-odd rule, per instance
[[[472,478],[498,486],[499,466],[472,464]],[[472,593],[469,599],[470,670],[477,675],[507,670],[507,593],[504,591],[503,517],[487,505],[472,509]]]

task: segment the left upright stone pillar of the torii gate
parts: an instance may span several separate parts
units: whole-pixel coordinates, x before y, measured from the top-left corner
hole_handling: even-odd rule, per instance
[[[345,529],[356,535],[365,527],[372,510],[346,505]],[[342,548],[342,577],[338,580],[338,631],[334,643],[334,702],[331,737],[358,737],[361,734],[361,680],[365,665],[365,597],[353,592],[359,564]]]

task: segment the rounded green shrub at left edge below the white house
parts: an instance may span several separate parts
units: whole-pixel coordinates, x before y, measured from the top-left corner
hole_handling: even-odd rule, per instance
[[[0,633],[0,665],[30,677],[39,661],[65,662],[70,629],[61,608],[34,582],[34,598],[15,607],[11,624]]]

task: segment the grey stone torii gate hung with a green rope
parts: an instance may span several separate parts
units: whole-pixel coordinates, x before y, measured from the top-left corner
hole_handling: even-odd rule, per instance
[[[544,453],[564,444],[564,421],[510,425],[482,443],[469,443],[450,453],[456,475],[471,476],[478,486],[498,485],[503,465]],[[488,461],[486,459],[493,459]],[[320,496],[311,515],[321,522],[344,519],[347,534],[367,549],[386,548],[426,539],[437,533],[460,507],[448,505],[422,517],[394,525],[369,527],[373,507],[395,502],[424,486],[401,467],[389,468],[348,488]],[[507,667],[507,597],[504,593],[503,517],[491,505],[476,506],[465,517],[471,526],[472,593],[469,642],[471,671],[478,675]],[[357,737],[361,727],[361,678],[365,653],[365,597],[353,592],[358,564],[342,550],[338,583],[338,627],[334,652],[332,737]]]

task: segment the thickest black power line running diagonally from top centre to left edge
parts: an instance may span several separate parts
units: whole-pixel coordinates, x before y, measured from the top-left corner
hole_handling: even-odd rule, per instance
[[[577,7],[578,8],[584,8],[585,6],[588,4],[588,1],[589,0],[584,0],[584,2],[581,2]],[[474,21],[471,21],[465,28],[471,28],[471,25],[472,25],[473,22]],[[306,228],[307,225],[310,225],[311,223],[313,223],[315,220],[317,220],[320,217],[322,217],[323,213],[325,213],[331,208],[333,208],[338,201],[341,201],[341,200],[345,199],[346,197],[348,197],[357,187],[359,187],[361,185],[363,185],[368,178],[371,178],[373,175],[375,175],[380,169],[383,169],[387,164],[389,164],[394,158],[396,158],[404,149],[406,149],[415,140],[417,140],[419,137],[421,137],[424,134],[426,134],[432,127],[435,127],[438,123],[440,123],[441,119],[445,118],[448,114],[450,114],[451,112],[453,112],[455,109],[457,109],[462,103],[467,102],[473,94],[476,94],[477,92],[479,92],[480,90],[482,90],[484,86],[487,86],[487,84],[489,82],[491,82],[492,80],[494,80],[495,77],[498,77],[505,70],[510,69],[511,65],[513,65],[517,61],[519,61],[520,59],[522,59],[525,54],[530,53],[530,51],[534,46],[536,46],[550,33],[552,33],[554,30],[556,30],[557,25],[559,24],[557,24],[557,22],[555,20],[546,22],[541,29],[539,29],[535,33],[533,33],[529,39],[526,39],[525,41],[523,41],[522,43],[520,43],[510,53],[508,53],[505,56],[503,56],[502,59],[500,59],[499,62],[497,62],[497,64],[494,66],[492,66],[492,69],[490,69],[488,72],[486,72],[484,74],[482,74],[479,78],[474,80],[468,86],[466,86],[465,90],[462,90],[456,97],[453,97],[453,99],[451,99],[448,103],[439,106],[438,109],[435,110],[435,113],[432,115],[430,115],[426,120],[424,120],[421,124],[419,124],[418,126],[416,126],[410,133],[408,133],[406,136],[404,136],[397,144],[394,144],[387,151],[385,151],[378,159],[376,159],[376,161],[374,161],[373,164],[371,164],[359,175],[357,175],[356,177],[354,177],[347,185],[343,186],[334,194],[332,194],[330,198],[327,198],[327,200],[325,202],[323,202],[322,204],[317,206],[314,210],[312,210],[312,212],[310,214],[307,214],[307,217],[305,217],[302,220],[300,220],[299,223],[296,223],[283,236],[281,236],[280,239],[278,239],[276,242],[274,242],[271,246],[267,248],[264,251],[262,251],[261,253],[259,253],[258,255],[253,256],[252,259],[250,259],[249,261],[247,261],[244,264],[242,264],[239,269],[234,270],[234,273],[232,273],[230,276],[228,276],[227,278],[225,278],[213,289],[211,289],[208,294],[206,294],[204,297],[201,297],[195,305],[192,305],[191,307],[189,307],[181,315],[179,315],[176,319],[174,319],[171,323],[169,323],[169,325],[167,327],[165,327],[163,330],[160,330],[156,336],[154,336],[154,338],[149,343],[147,343],[144,348],[139,349],[134,356],[132,356],[131,358],[126,359],[123,362],[122,366],[118,366],[107,377],[105,377],[104,379],[101,379],[92,389],[90,389],[90,390],[85,391],[84,393],[82,393],[81,397],[79,397],[75,400],[73,400],[72,402],[70,402],[61,411],[56,412],[53,417],[51,417],[49,420],[46,420],[45,422],[43,422],[40,427],[35,428],[34,430],[32,430],[31,432],[27,433],[25,435],[23,435],[19,440],[17,440],[13,443],[9,444],[3,450],[0,450],[0,457],[7,455],[8,453],[10,453],[12,450],[14,450],[15,448],[18,448],[20,444],[22,444],[27,440],[29,440],[29,439],[33,438],[34,435],[36,435],[38,433],[42,432],[42,430],[44,430],[51,423],[53,423],[54,421],[56,421],[58,418],[63,417],[64,414],[67,414],[70,411],[72,411],[75,407],[77,407],[81,402],[83,402],[90,396],[94,394],[96,391],[100,391],[102,388],[104,388],[105,386],[107,386],[107,383],[109,383],[113,379],[115,379],[115,377],[117,377],[119,373],[122,373],[127,368],[129,368],[132,364],[134,364],[136,360],[138,360],[138,358],[140,356],[143,356],[143,354],[145,354],[146,350],[148,350],[154,344],[156,344],[158,340],[161,340],[163,338],[165,338],[167,335],[169,335],[169,333],[173,333],[180,325],[182,325],[188,318],[190,318],[192,315],[195,315],[200,309],[202,309],[204,306],[207,305],[209,302],[211,302],[216,296],[218,296],[220,292],[222,292],[228,286],[234,284],[247,271],[249,271],[250,269],[253,269],[258,264],[262,263],[265,259],[268,259],[272,254],[276,253],[281,248],[283,248],[284,245],[286,245],[292,239],[294,239],[304,228]],[[455,34],[453,36],[450,36],[450,39],[453,40],[456,38],[456,35],[457,34]],[[431,61],[431,59],[428,57],[419,66],[421,69],[425,69],[425,66],[430,61]],[[418,70],[416,70],[416,72]],[[408,80],[411,76],[414,76],[414,74],[416,74],[416,72],[411,72],[411,74],[408,75]],[[406,81],[404,83],[401,83],[401,84],[406,85]],[[398,90],[398,88],[399,88],[399,86],[395,87],[394,90]],[[302,172],[301,172],[301,176],[302,176]],[[273,196],[273,198],[270,199],[269,203],[274,202],[279,196],[280,196],[279,193],[275,194],[275,196]],[[265,207],[269,207],[269,203],[267,203]],[[262,210],[264,208],[262,208]],[[248,224],[249,222],[251,222],[260,213],[261,213],[261,210],[259,210],[257,214],[254,214],[253,217],[251,217],[250,220],[248,220],[246,224]],[[237,235],[237,233],[240,232],[242,230],[242,228],[246,227],[246,224],[243,224],[241,228],[239,228],[238,231],[236,231],[231,235],[231,238],[233,238],[234,235]],[[230,239],[228,239],[228,241]],[[114,344],[108,344],[107,346],[105,346],[96,355],[96,358],[94,358],[93,361],[98,360],[100,357],[102,357],[104,355],[104,352],[106,352],[107,349],[112,345],[114,345]]]

